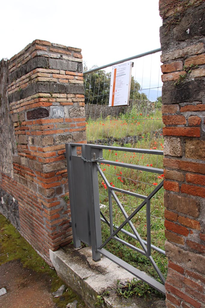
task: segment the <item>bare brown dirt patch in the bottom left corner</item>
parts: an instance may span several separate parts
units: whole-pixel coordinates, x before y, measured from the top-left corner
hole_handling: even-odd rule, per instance
[[[4,308],[56,308],[50,292],[51,278],[24,268],[20,261],[10,261],[0,266],[0,296]]]

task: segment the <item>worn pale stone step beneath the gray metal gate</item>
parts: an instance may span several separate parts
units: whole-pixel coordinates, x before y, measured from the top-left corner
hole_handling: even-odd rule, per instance
[[[102,303],[98,307],[166,307],[165,301],[156,297],[127,299],[117,296],[115,291],[117,281],[126,283],[134,276],[106,257],[102,256],[98,262],[93,261],[90,247],[76,249],[73,245],[67,245],[57,251],[50,250],[50,259],[58,276],[83,299],[89,308],[96,307],[97,295],[102,296]]]

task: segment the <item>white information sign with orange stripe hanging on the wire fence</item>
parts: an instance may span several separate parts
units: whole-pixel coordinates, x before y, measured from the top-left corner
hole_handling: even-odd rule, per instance
[[[132,62],[112,66],[109,107],[129,105]]]

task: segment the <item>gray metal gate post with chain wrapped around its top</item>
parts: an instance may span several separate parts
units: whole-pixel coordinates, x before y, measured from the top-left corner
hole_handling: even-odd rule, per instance
[[[89,144],[82,145],[82,156],[86,160],[92,160],[97,157],[102,157],[101,149],[94,149],[94,151],[95,153],[92,152],[92,148]],[[88,186],[87,202],[89,202],[92,257],[94,261],[99,261],[101,259],[101,254],[97,251],[97,249],[102,244],[102,237],[97,163],[86,162],[85,168],[85,180]]]

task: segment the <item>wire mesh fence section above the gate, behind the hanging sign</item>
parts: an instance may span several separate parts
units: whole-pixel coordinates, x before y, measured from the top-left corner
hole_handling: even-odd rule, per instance
[[[108,107],[112,65],[130,59],[130,104]],[[116,63],[84,72],[88,143],[163,149],[160,49]]]

